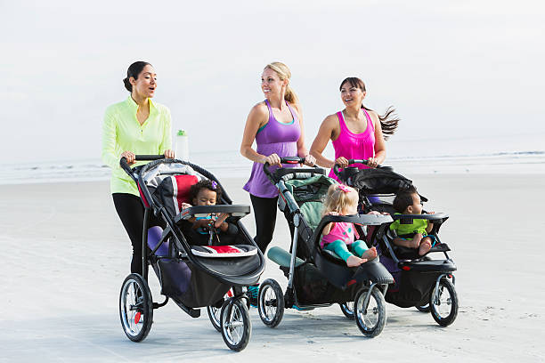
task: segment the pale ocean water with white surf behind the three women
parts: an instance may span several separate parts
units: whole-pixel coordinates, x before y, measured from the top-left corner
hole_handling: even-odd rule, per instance
[[[333,158],[330,143],[324,155]],[[204,167],[220,180],[248,178],[252,165],[238,150],[191,151],[190,156],[191,163]],[[388,141],[385,165],[408,177],[417,173],[544,174],[545,134]],[[0,184],[109,179],[110,168],[102,165],[100,157],[0,164]]]

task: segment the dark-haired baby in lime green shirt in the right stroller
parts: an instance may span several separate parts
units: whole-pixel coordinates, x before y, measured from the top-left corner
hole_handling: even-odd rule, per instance
[[[395,214],[422,214],[422,201],[414,186],[401,190],[394,199]],[[435,214],[427,212],[427,214]],[[418,248],[419,255],[427,254],[435,246],[435,236],[429,235],[434,229],[434,223],[425,219],[413,219],[412,223],[402,224],[401,220],[395,220],[390,224],[390,230],[395,230],[394,238],[396,246]]]

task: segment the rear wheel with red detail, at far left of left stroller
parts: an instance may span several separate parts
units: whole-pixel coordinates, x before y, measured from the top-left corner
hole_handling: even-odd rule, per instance
[[[125,335],[141,342],[150,333],[153,323],[153,300],[146,280],[131,273],[123,281],[119,294],[119,318]]]

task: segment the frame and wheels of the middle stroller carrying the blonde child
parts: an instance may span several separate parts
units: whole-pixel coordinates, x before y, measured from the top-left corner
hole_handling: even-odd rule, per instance
[[[304,163],[305,159],[301,157],[282,157],[282,164],[298,164]],[[346,262],[340,260],[338,256],[330,253],[327,250],[321,250],[318,244],[321,239],[321,230],[329,222],[353,222],[357,224],[375,225],[378,228],[385,222],[391,222],[390,216],[385,215],[353,215],[353,216],[335,216],[328,215],[321,218],[318,226],[312,230],[305,221],[301,209],[299,208],[296,199],[286,186],[285,180],[289,178],[297,178],[297,176],[305,178],[313,175],[324,174],[323,169],[313,168],[279,168],[274,173],[269,171],[269,165],[264,165],[264,173],[271,179],[279,190],[281,199],[279,199],[279,207],[285,214],[292,215],[293,230],[291,253],[274,246],[269,250],[268,257],[281,265],[281,270],[284,270],[288,278],[288,287],[286,293],[281,293],[280,285],[273,279],[267,279],[260,286],[258,309],[259,314],[268,327],[276,327],[283,315],[285,308],[295,308],[297,310],[312,310],[314,308],[330,306],[332,303],[339,303],[341,310],[349,319],[356,318],[356,324],[364,335],[376,336],[380,334],[386,324],[386,309],[384,308],[383,294],[386,294],[387,286],[393,281],[389,272],[378,262],[378,259],[363,263],[359,268],[349,268]],[[283,209],[282,206],[283,205]],[[289,218],[288,218],[289,219]],[[361,230],[361,229],[360,229]],[[300,239],[303,238],[303,249],[306,248],[305,260],[297,257],[299,251]],[[324,256],[322,254],[327,254]],[[289,269],[287,261],[289,261]],[[296,269],[306,265],[308,268],[319,271],[321,280],[330,286],[328,291],[337,291],[337,299],[343,302],[336,301],[336,297],[325,299],[326,301],[318,300],[316,303],[312,301],[302,303],[297,297],[297,274]],[[331,290],[333,289],[333,290]],[[274,296],[267,297],[269,290],[273,290]],[[342,297],[340,297],[342,296]],[[377,306],[368,310],[371,299]],[[347,301],[355,301],[355,306],[359,306],[359,310],[350,312],[346,308]],[[343,304],[345,307],[343,308]],[[270,314],[270,308],[274,308],[274,313]],[[354,310],[354,309],[353,309]],[[377,322],[369,324],[369,316],[367,314],[378,314]]]

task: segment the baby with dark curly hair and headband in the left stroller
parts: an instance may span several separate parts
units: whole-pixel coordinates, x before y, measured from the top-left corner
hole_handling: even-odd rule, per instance
[[[203,179],[191,185],[190,200],[193,206],[216,206],[217,201],[221,198],[222,188],[216,181]],[[182,208],[191,208],[191,204],[182,203]],[[207,214],[206,217],[191,217],[184,221],[182,230],[191,236],[193,245],[210,245],[210,238],[214,238],[214,236],[219,240],[220,235],[223,234],[231,236],[238,234],[237,226],[232,222],[227,222],[228,216],[229,214]]]

